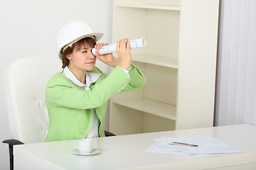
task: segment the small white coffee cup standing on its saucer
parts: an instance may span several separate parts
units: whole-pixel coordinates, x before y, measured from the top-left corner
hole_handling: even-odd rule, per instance
[[[80,153],[90,153],[92,152],[92,139],[81,139],[78,142],[74,142],[74,147],[78,148]]]

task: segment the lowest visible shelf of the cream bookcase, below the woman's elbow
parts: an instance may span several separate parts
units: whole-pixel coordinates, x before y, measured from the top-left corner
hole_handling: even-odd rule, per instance
[[[158,115],[163,118],[176,120],[176,106],[161,103],[158,101],[152,101],[146,98],[129,98],[129,99],[117,99],[112,98],[112,103],[133,108],[153,115]]]

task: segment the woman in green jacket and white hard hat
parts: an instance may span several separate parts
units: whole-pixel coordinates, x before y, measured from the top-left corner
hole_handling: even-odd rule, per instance
[[[96,44],[102,35],[94,33],[82,21],[68,23],[58,33],[63,72],[54,74],[46,87],[49,116],[46,142],[105,137],[107,101],[114,94],[140,89],[146,84],[142,72],[131,64],[128,39],[117,42],[119,60],[112,54],[96,52],[98,60],[114,68],[110,74],[95,67],[96,57],[91,49],[100,50],[107,45]]]

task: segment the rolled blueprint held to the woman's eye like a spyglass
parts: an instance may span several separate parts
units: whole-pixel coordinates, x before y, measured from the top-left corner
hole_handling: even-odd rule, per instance
[[[145,38],[139,38],[136,40],[130,40],[130,49],[135,49],[138,47],[145,47],[146,46],[146,39]],[[108,53],[116,52],[117,51],[117,43],[111,44],[111,45],[105,45],[100,50],[97,50],[100,55],[105,55]],[[96,49],[92,48],[92,55],[96,54]]]

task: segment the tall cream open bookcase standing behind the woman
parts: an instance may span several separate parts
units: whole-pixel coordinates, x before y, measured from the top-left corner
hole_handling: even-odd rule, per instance
[[[213,126],[218,0],[115,0],[112,40],[146,38],[143,89],[110,100],[117,135]]]

